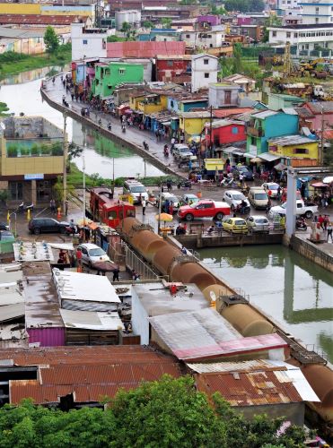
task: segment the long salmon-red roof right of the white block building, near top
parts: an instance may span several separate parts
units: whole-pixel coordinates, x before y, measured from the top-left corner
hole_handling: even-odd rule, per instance
[[[109,42],[107,57],[181,56],[185,42]]]

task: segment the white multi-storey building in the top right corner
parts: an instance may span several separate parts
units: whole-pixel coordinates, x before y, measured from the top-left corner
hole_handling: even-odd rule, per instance
[[[332,0],[303,0],[302,22],[308,25],[333,23]]]

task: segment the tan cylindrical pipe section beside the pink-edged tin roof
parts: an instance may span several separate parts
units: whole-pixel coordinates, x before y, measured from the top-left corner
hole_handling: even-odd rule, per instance
[[[273,325],[248,305],[226,306],[221,314],[244,337],[274,332]]]

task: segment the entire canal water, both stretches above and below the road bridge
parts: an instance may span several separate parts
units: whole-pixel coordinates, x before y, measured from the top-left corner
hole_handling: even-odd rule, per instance
[[[40,71],[22,74],[1,82],[0,101],[10,112],[19,115],[41,115],[59,127],[63,116],[42,102]],[[12,79],[12,83],[11,83]],[[15,83],[13,83],[15,82]],[[88,174],[101,177],[159,176],[154,168],[133,151],[101,137],[92,129],[68,119],[69,139],[84,148]],[[82,168],[82,158],[75,159]],[[282,325],[309,348],[324,352],[333,363],[333,277],[329,271],[309,262],[283,246],[246,246],[203,249],[203,262],[232,287],[250,295],[250,301]]]

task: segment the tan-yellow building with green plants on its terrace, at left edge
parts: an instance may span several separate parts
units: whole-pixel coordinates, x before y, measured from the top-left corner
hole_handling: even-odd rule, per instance
[[[64,169],[62,131],[41,116],[8,116],[2,122],[0,189],[15,203],[48,203]]]

